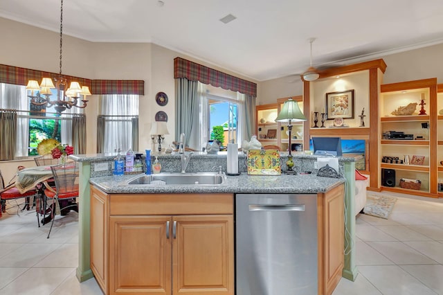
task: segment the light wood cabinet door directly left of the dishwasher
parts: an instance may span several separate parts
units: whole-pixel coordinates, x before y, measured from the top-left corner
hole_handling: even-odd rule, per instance
[[[233,215],[174,216],[172,294],[234,294]]]

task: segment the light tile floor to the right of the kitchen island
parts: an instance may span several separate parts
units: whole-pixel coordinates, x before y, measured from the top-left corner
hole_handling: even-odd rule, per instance
[[[333,295],[443,295],[443,200],[398,197],[388,220],[358,215],[354,282]]]

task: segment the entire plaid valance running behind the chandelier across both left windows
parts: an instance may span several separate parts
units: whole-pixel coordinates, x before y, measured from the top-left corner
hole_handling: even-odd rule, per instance
[[[28,80],[41,81],[43,77],[57,78],[58,73],[37,71],[0,64],[0,83],[27,85]],[[77,81],[82,86],[88,86],[93,94],[138,94],[145,95],[143,80],[90,80],[86,78],[63,75],[68,84]]]

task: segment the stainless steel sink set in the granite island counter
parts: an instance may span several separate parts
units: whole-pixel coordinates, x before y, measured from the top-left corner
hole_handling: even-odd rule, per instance
[[[140,175],[127,181],[129,186],[218,186],[224,184],[226,175],[216,172],[160,173]]]

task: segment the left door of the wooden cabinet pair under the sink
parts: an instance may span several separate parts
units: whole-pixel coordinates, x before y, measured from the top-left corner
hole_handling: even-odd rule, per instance
[[[170,216],[112,216],[109,294],[171,294]]]

